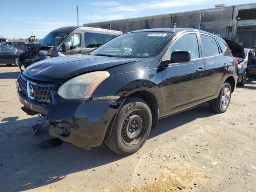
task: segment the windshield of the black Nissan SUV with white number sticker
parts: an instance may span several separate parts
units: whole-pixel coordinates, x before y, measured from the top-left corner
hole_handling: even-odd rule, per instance
[[[152,56],[171,35],[172,32],[126,33],[96,48],[91,55],[146,58]]]

